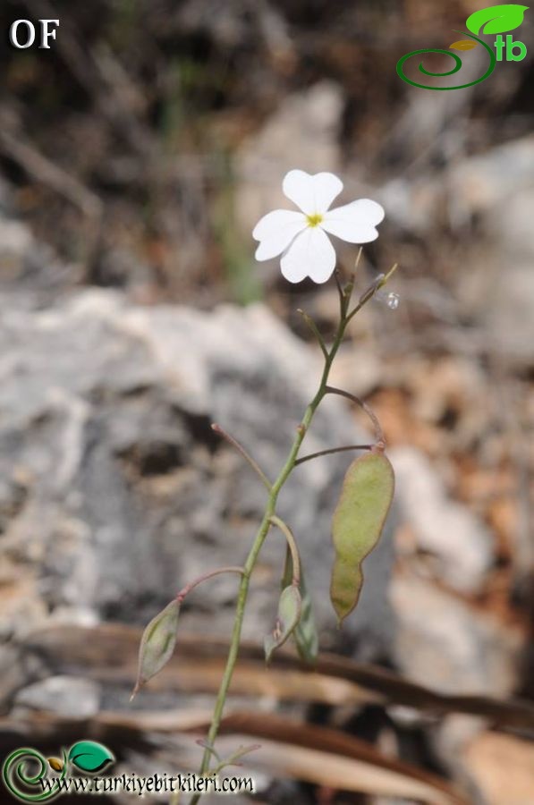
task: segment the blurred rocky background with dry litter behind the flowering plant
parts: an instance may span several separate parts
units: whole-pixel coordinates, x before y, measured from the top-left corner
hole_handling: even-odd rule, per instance
[[[210,423],[275,476],[320,370],[296,309],[335,328],[333,283],[290,286],[277,260],[253,258],[251,229],[288,206],[298,167],[339,174],[343,203],[386,208],[357,287],[398,262],[400,305],[354,320],[333,383],[377,413],[395,506],[337,631],[329,523],[349,459],[295,471],[280,511],[324,654],[315,674],[291,650],[266,671],[255,648],[284,560],[273,534],[221,750],[262,745],[233,769],[257,781],[240,801],[534,803],[530,11],[514,32],[526,57],[474,87],[416,89],[395,72],[479,7],[4,0],[3,757],[92,737],[115,771],[197,766],[233,577],[188,599],[174,662],[128,699],[144,624],[200,572],[242,561],[263,511]],[[60,19],[49,50],[9,44],[13,21],[45,18]],[[479,50],[462,55],[469,80]],[[338,255],[350,270],[355,248]],[[367,426],[328,401],[310,452]]]

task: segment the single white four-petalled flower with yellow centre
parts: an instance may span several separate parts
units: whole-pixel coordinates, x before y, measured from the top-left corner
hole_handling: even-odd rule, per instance
[[[282,255],[282,274],[290,283],[309,276],[325,283],[335,269],[335,249],[326,233],[349,243],[376,240],[377,224],[384,209],[376,201],[359,199],[343,207],[329,209],[343,190],[335,174],[306,174],[290,171],[282,184],[284,195],[301,211],[275,209],[263,216],[252,237],[259,241],[257,260]]]

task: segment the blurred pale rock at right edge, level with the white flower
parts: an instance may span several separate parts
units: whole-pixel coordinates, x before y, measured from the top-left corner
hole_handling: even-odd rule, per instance
[[[401,233],[428,240],[428,233],[445,226],[454,235],[451,249],[456,236],[462,237],[453,287],[457,324],[462,319],[476,323],[484,350],[529,368],[534,319],[530,225],[534,137],[453,159],[441,174],[418,170],[395,177],[377,191],[376,198]],[[443,315],[443,301],[440,307]],[[467,332],[465,338],[471,335]]]

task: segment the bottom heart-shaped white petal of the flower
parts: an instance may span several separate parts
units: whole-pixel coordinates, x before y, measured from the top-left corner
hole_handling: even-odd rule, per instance
[[[309,276],[315,283],[326,283],[335,269],[335,249],[318,226],[309,226],[298,235],[280,261],[282,274],[290,283]]]

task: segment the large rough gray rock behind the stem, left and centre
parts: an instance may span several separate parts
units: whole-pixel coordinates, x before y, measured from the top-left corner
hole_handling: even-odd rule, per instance
[[[63,620],[70,610],[77,620],[92,613],[145,623],[199,573],[242,562],[266,493],[210,423],[274,478],[318,382],[316,352],[262,306],[207,314],[91,291],[44,311],[5,309],[2,539],[4,555],[37,576],[42,606]],[[305,452],[358,438],[344,402],[329,399]],[[325,647],[343,640],[349,653],[358,643],[359,656],[371,658],[387,654],[393,633],[389,536],[369,557],[343,635],[328,601],[330,518],[349,461],[297,468],[279,513],[300,541]],[[249,637],[271,628],[283,561],[273,530],[252,584]],[[230,575],[199,587],[184,628],[224,633],[235,591]]]

